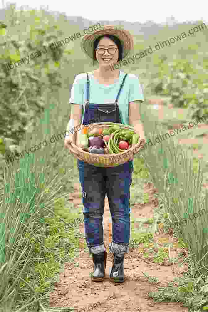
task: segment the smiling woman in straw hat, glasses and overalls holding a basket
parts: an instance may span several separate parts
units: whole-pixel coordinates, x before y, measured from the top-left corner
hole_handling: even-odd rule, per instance
[[[133,48],[129,32],[107,25],[86,35],[81,46],[85,54],[93,60],[93,65],[97,61],[99,67],[94,72],[75,77],[70,98],[70,103],[75,105],[69,126],[76,127],[81,122],[86,125],[109,121],[129,124],[144,139],[139,115],[139,105],[144,99],[138,78],[118,69],[111,70]],[[66,148],[70,142],[75,143],[75,134],[65,138]],[[129,188],[132,182],[132,160],[113,168],[96,167],[77,161],[82,193],[85,194],[85,237],[94,263],[91,276],[93,281],[101,281],[105,277],[107,252],[102,221],[104,198],[107,194],[112,217],[112,242],[109,251],[114,253],[110,280],[124,282],[123,261],[124,254],[128,252],[130,238]]]

